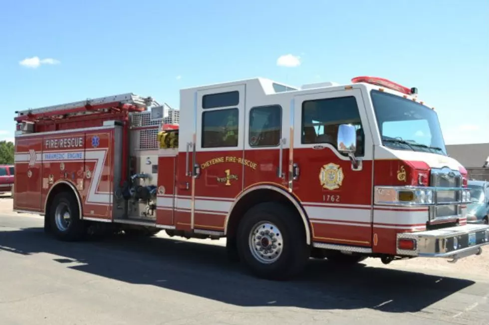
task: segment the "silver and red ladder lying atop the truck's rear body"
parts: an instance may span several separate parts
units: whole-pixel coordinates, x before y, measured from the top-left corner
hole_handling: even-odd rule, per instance
[[[56,115],[74,116],[79,114],[109,111],[110,109],[127,109],[128,111],[144,111],[149,106],[158,105],[151,97],[141,97],[132,93],[87,99],[85,101],[29,108],[15,111],[17,122],[36,121],[45,118],[54,118]]]

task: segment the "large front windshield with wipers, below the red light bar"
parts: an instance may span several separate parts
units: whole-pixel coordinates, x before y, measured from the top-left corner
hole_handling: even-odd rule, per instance
[[[433,109],[377,90],[371,91],[371,97],[384,146],[447,155]]]

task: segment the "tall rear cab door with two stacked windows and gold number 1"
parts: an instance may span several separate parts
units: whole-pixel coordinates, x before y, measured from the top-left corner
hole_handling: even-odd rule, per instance
[[[198,91],[196,112],[191,226],[223,232],[243,190],[245,84]]]

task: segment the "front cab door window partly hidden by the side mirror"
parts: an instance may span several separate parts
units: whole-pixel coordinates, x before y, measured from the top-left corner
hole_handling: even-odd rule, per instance
[[[329,143],[336,148],[340,124],[352,124],[357,130],[357,151],[363,156],[365,134],[355,97],[338,97],[302,103],[301,143]]]

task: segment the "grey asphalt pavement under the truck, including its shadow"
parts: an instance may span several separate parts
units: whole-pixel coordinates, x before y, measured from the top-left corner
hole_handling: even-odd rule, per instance
[[[489,324],[489,275],[464,272],[477,258],[447,270],[311,260],[273,282],[229,263],[223,240],[175,238],[66,243],[40,217],[0,214],[0,324]]]

